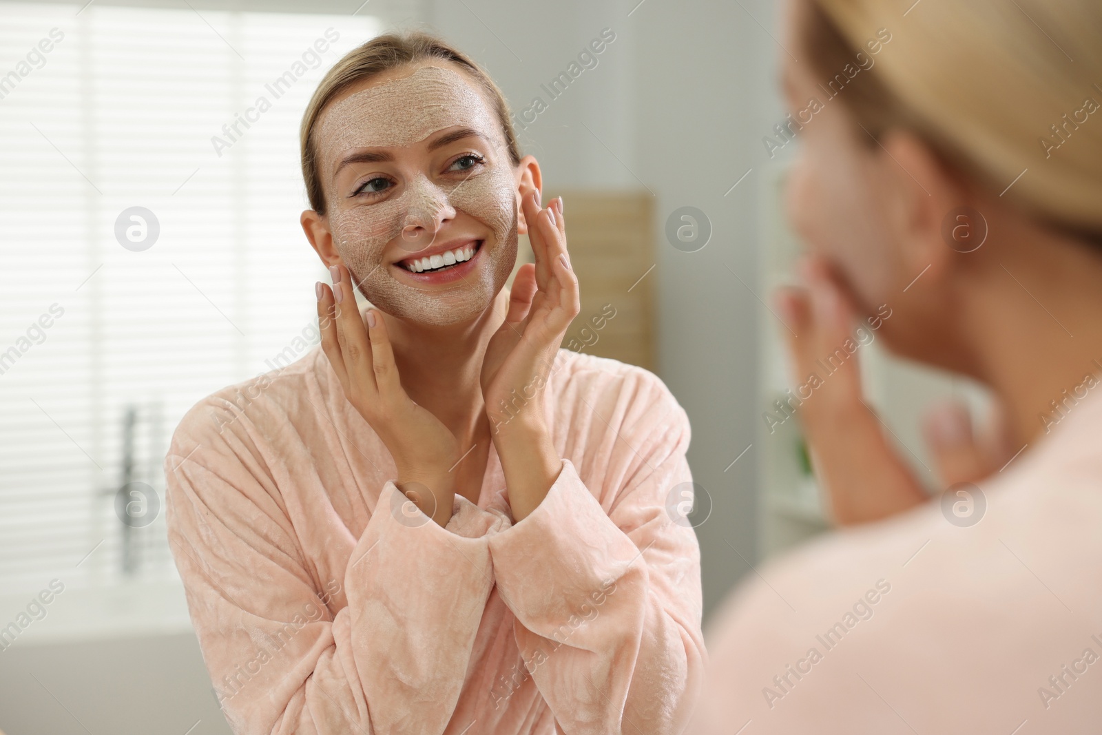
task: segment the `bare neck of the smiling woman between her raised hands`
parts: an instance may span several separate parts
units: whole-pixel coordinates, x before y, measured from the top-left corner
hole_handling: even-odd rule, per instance
[[[474,320],[447,326],[382,314],[406,392],[464,446],[489,433],[479,375],[486,345],[505,320],[509,292],[501,289]]]

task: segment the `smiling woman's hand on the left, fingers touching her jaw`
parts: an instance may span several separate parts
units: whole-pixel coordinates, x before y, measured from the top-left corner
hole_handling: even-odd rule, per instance
[[[333,288],[317,282],[322,349],[345,397],[379,435],[398,468],[395,484],[434,521],[452,517],[460,460],[455,435],[402,388],[387,326],[377,310],[364,318],[356,305],[348,269],[329,267]]]

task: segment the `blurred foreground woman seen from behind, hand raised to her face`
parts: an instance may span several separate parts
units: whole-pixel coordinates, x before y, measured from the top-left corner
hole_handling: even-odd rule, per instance
[[[716,613],[690,732],[1098,732],[1102,10],[793,0],[788,32],[810,257],[778,305],[846,529]],[[930,426],[943,494],[862,400],[864,320],[1003,407],[1000,441]]]

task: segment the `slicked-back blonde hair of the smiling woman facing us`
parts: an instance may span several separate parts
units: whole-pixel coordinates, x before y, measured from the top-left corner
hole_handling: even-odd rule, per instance
[[[314,142],[314,128],[325,107],[342,91],[365,79],[370,79],[389,69],[432,60],[455,64],[482,85],[501,122],[501,132],[505,136],[509,160],[512,165],[520,163],[520,149],[512,129],[509,105],[505,101],[505,95],[501,94],[501,90],[478,64],[463,52],[430,33],[423,31],[387,33],[376,36],[345,54],[325,73],[317,89],[310,98],[310,104],[306,105],[306,110],[302,116],[302,126],[299,128],[299,142],[302,152],[302,177],[306,184],[306,197],[314,212],[324,215],[326,210],[325,191],[317,171],[317,151]]]

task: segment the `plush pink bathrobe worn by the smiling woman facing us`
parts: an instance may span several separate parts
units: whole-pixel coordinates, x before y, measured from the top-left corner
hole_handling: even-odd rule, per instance
[[[568,350],[545,398],[548,496],[515,523],[490,448],[446,528],[320,347],[188,411],[169,540],[236,733],[683,728],[705,660],[696,537],[672,520],[685,413],[652,374]]]

